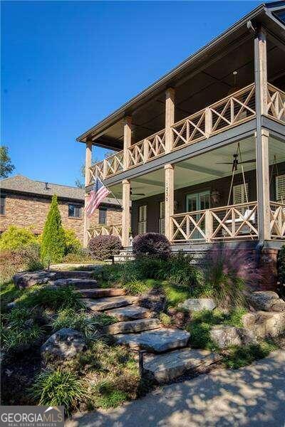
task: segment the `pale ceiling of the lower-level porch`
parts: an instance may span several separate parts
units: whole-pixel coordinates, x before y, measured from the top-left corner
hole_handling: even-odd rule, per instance
[[[240,144],[242,160],[255,159],[255,140],[254,137],[243,139]],[[237,152],[237,143],[215,149],[206,154],[195,158],[184,160],[175,164],[175,189],[185,186],[192,186],[202,182],[212,181],[214,179],[231,176],[231,164],[219,164],[220,162],[232,162],[233,154]],[[277,162],[285,162],[284,142],[269,137],[269,162],[273,164],[274,156]],[[244,164],[244,172],[255,169],[255,163]],[[238,172],[241,173],[241,166]],[[132,200],[143,199],[147,196],[154,196],[164,191],[165,176],[164,169],[158,169],[154,172],[138,176],[131,180]],[[122,186],[117,184],[110,187],[115,196],[122,197]]]

